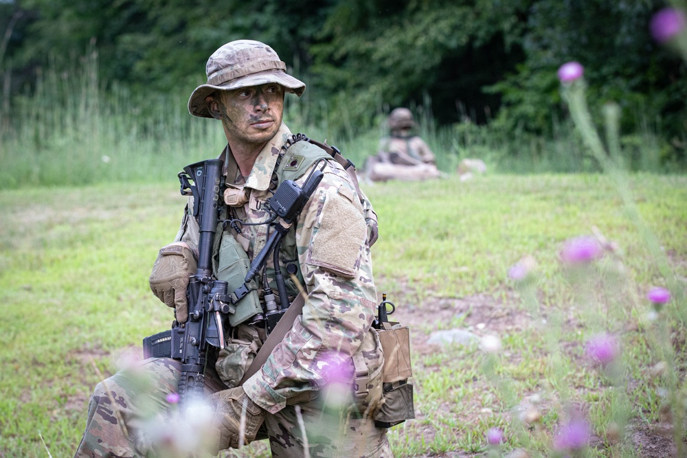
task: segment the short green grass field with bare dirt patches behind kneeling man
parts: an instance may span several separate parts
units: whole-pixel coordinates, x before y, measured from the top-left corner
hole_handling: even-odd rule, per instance
[[[633,175],[630,189],[658,255],[602,175],[365,187],[380,220],[379,293],[412,325],[417,419],[392,429],[397,457],[495,452],[484,438],[492,427],[506,435],[500,451],[550,456],[573,404],[592,425],[580,456],[674,456],[670,420],[681,409],[671,402],[683,399],[686,369],[687,177]],[[183,205],[172,181],[0,192],[0,457],[71,456],[95,383],[142,337],[168,327],[171,312],[148,275]],[[561,243],[592,231],[615,251],[585,272],[564,271]],[[508,269],[525,255],[536,273],[514,282]],[[673,293],[656,321],[645,319],[651,286]],[[452,328],[477,341],[427,343]],[[585,360],[585,341],[602,330],[622,342],[620,382]],[[480,350],[486,335],[499,338],[498,352]],[[523,412],[530,416],[517,421]],[[611,426],[622,421],[618,439]],[[266,454],[264,444],[236,453]]]

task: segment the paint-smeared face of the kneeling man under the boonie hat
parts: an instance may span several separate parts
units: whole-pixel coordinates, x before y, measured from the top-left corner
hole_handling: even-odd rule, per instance
[[[218,103],[229,144],[264,144],[282,124],[284,88],[280,84],[242,87],[218,91]]]

